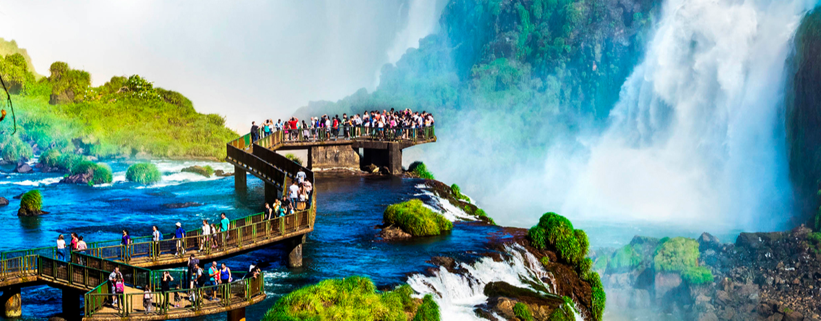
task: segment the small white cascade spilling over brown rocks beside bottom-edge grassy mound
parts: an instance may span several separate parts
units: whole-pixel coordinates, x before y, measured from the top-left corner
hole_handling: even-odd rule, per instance
[[[473,310],[475,305],[488,300],[484,286],[490,282],[507,282],[538,291],[523,281],[526,280],[556,294],[553,275],[542,267],[539,259],[518,244],[505,245],[505,252],[507,257],[503,256],[501,262],[484,257],[474,264],[458,264],[459,273],[440,267],[433,276],[411,275],[407,283],[422,295],[433,295],[443,320],[479,319]],[[543,282],[543,278],[551,282]],[[577,315],[576,319],[580,317]]]

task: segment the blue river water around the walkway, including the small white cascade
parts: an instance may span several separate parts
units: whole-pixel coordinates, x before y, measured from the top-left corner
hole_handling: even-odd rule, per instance
[[[127,163],[110,162],[114,183],[105,186],[60,184],[62,174],[11,173],[2,167],[0,196],[11,204],[0,207],[0,250],[17,250],[35,246],[52,246],[57,235],[77,232],[86,241],[115,240],[122,228],[133,236],[149,235],[152,225],[171,232],[175,222],[184,227],[199,227],[202,218],[216,219],[221,212],[229,218],[258,213],[264,200],[262,182],[249,176],[248,191],[237,193],[232,177],[205,178],[181,173],[183,167],[211,165],[215,169],[232,171],[227,163],[154,161],[163,181],[154,186],[140,186],[125,181]],[[235,271],[245,271],[250,264],[261,264],[266,276],[268,299],[247,310],[249,320],[260,319],[274,301],[282,295],[328,277],[364,275],[374,279],[379,288],[395,287],[409,282],[417,291],[436,288],[443,315],[451,319],[471,316],[471,306],[484,301],[481,289],[493,281],[519,284],[522,279],[538,280],[544,271],[521,250],[508,250],[509,259],[493,262],[478,255],[488,250],[488,237],[498,237],[500,229],[471,222],[457,222],[453,232],[445,236],[427,237],[415,241],[384,242],[378,240],[375,228],[382,223],[382,213],[388,204],[410,198],[420,198],[446,217],[462,217],[459,209],[441,204],[421,190],[421,181],[396,177],[323,176],[317,179],[318,217],[314,232],[307,236],[303,251],[305,268],[291,270],[283,264],[284,253],[279,246],[255,250],[225,260]],[[15,195],[41,190],[44,210],[51,212],[38,218],[18,218],[19,200]],[[198,207],[167,209],[163,204],[197,202]],[[491,213],[492,216],[503,213]],[[619,246],[636,234],[657,236],[697,236],[700,231],[643,225],[601,225],[595,221],[576,222],[589,231],[595,246]],[[719,236],[721,237],[721,236]],[[728,240],[729,237],[723,238]],[[454,275],[438,269],[432,276],[419,274],[433,265],[426,263],[433,256],[451,256],[466,268],[467,275]],[[532,255],[530,255],[532,256]],[[471,263],[472,262],[472,263]],[[534,278],[534,276],[536,276]],[[426,285],[427,284],[427,285]],[[25,319],[47,319],[61,311],[62,294],[51,287],[23,289]],[[224,314],[201,319],[224,319]]]

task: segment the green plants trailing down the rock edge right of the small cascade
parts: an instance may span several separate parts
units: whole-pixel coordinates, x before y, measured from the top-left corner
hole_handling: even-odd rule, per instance
[[[593,304],[591,310],[593,310],[594,320],[600,321],[603,318],[607,296],[604,294],[599,273],[592,271],[593,260],[586,258],[589,250],[587,233],[574,229],[570,220],[562,215],[550,212],[544,213],[539,218],[539,224],[530,227],[527,237],[535,248],[556,250],[558,259],[576,268],[579,277],[590,285]],[[554,315],[555,318],[566,318],[567,313],[570,313],[569,318],[573,318],[571,312],[559,310],[554,311],[551,318]]]

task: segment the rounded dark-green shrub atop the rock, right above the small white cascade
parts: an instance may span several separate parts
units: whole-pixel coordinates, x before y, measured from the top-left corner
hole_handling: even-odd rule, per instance
[[[544,213],[539,224],[530,228],[528,237],[537,249],[553,246],[559,259],[572,265],[578,265],[587,256],[587,234],[574,230],[570,220],[557,213]]]

